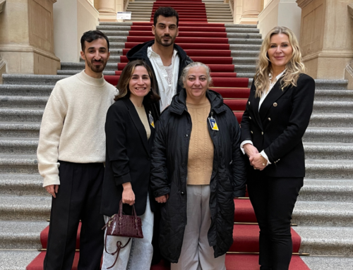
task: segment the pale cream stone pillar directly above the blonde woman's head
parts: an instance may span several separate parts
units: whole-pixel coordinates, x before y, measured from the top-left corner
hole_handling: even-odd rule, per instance
[[[258,28],[261,35],[270,32],[273,27],[280,25],[291,29],[300,40],[301,8],[296,0],[266,0],[263,11],[258,16]]]

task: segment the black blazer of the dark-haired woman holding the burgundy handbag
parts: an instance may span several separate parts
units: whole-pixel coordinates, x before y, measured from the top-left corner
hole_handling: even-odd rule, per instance
[[[143,103],[146,117],[151,113],[154,121],[158,114],[154,104]],[[150,121],[148,121],[150,123]],[[135,209],[138,216],[145,213],[147,194],[150,207],[155,211],[155,197],[150,192],[150,149],[155,137],[155,128],[150,125],[151,135],[147,140],[146,130],[128,97],[112,104],[105,122],[106,161],[102,190],[101,214],[112,216],[119,211],[123,183],[131,182],[135,193]],[[132,207],[124,204],[124,213],[131,214]]]

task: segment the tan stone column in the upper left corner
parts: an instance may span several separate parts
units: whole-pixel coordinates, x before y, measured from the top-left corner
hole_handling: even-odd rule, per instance
[[[6,73],[56,74],[60,60],[54,55],[55,2],[6,0],[0,13],[0,56]]]

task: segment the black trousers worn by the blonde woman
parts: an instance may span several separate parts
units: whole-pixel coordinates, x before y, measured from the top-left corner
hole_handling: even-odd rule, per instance
[[[248,180],[248,192],[260,227],[261,269],[288,270],[292,259],[290,223],[304,178],[260,176]]]

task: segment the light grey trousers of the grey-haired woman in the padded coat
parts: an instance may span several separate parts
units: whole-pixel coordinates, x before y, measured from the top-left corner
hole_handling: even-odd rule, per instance
[[[208,243],[211,225],[210,185],[188,185],[187,218],[183,245],[177,264],[171,270],[225,270],[225,254],[215,258]]]

